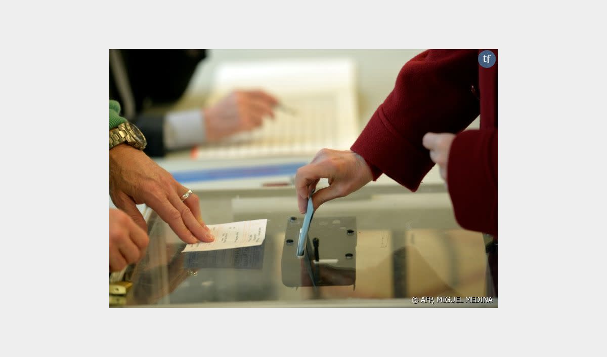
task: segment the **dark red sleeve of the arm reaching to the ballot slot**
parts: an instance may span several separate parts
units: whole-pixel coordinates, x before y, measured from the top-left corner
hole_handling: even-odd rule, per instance
[[[407,62],[392,92],[351,147],[370,164],[373,179],[383,173],[416,191],[432,169],[422,145],[427,132],[466,128],[479,114],[477,50],[427,50]]]

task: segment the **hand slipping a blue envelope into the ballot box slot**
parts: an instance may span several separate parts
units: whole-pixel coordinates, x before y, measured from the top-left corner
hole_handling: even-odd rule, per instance
[[[295,189],[299,212],[305,213],[308,195],[316,189],[320,178],[328,178],[329,186],[319,189],[312,197],[314,210],[323,203],[348,196],[373,180],[371,169],[361,155],[353,151],[320,150],[309,165],[297,169]]]

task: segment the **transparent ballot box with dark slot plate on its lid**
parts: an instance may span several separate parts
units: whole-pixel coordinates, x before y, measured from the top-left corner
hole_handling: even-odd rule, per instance
[[[182,253],[186,244],[148,211],[146,255],[110,305],[497,307],[497,243],[456,223],[444,186],[371,184],[325,203],[303,258],[293,188],[195,193],[208,225],[267,219],[262,245]]]

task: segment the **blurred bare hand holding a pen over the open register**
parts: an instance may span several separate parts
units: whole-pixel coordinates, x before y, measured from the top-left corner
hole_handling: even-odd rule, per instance
[[[261,90],[238,90],[207,109],[206,138],[217,141],[240,131],[248,131],[262,124],[266,115],[274,118],[276,98]]]

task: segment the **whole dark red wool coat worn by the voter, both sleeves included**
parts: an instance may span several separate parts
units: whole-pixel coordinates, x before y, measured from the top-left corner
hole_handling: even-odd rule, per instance
[[[497,50],[492,50],[497,57]],[[497,61],[479,50],[427,50],[407,62],[392,92],[351,147],[382,173],[416,191],[434,163],[427,132],[451,132],[447,186],[463,228],[497,237]],[[463,131],[478,115],[480,129]]]

